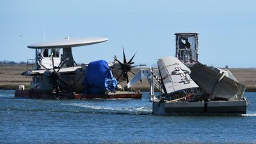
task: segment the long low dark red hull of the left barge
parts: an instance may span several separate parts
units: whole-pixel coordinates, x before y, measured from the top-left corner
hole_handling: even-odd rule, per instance
[[[106,94],[59,93],[41,90],[15,90],[15,98],[23,99],[141,99],[138,92],[109,92]]]

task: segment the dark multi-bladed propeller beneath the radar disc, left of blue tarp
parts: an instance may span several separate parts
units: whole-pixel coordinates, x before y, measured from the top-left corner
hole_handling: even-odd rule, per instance
[[[51,71],[49,68],[46,68],[44,65],[42,65],[42,63],[40,63],[39,61],[37,61],[38,65],[40,65],[40,67],[45,68],[45,70],[47,71],[48,74],[45,74],[46,76],[51,77],[51,82],[52,83],[52,88],[55,88],[55,92],[56,92],[56,97],[58,97],[59,93],[60,93],[60,86],[58,84],[58,82],[60,81],[61,83],[66,84],[67,86],[70,87],[70,85],[60,77],[60,69],[63,67],[63,65],[66,63],[66,61],[69,60],[69,58],[66,58],[64,61],[62,61],[60,63],[60,65],[58,67],[54,67],[54,59],[53,59],[53,53],[51,54],[51,60],[52,60],[52,70]],[[58,68],[58,70],[55,70],[55,68]]]

